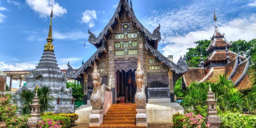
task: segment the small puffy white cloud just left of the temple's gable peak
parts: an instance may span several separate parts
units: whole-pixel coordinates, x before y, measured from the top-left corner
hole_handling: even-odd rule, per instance
[[[97,19],[97,14],[95,10],[86,10],[82,13],[83,17],[81,18],[81,23],[87,23],[90,28],[95,26],[93,19]]]

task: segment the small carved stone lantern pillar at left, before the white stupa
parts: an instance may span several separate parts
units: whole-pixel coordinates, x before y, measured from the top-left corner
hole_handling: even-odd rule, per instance
[[[36,95],[33,99],[33,103],[30,104],[30,106],[31,106],[30,116],[31,117],[28,118],[28,122],[27,122],[29,128],[37,128],[38,121],[42,120],[42,118],[40,118],[40,106],[41,105],[38,102],[39,102],[39,100],[37,97],[37,90],[36,90]]]

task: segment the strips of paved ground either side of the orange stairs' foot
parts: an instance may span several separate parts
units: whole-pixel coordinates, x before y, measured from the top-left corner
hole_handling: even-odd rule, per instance
[[[89,126],[89,123],[76,123],[76,126],[72,128],[88,128],[88,126]],[[173,124],[172,123],[148,123],[148,128],[173,128]]]

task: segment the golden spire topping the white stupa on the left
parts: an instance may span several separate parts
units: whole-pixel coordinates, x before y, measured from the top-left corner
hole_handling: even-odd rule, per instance
[[[52,6],[53,8],[53,6]],[[48,33],[48,38],[46,38],[47,40],[47,44],[44,45],[44,52],[45,51],[52,51],[54,52],[54,45],[52,44],[52,17],[53,17],[53,13],[51,12],[50,14],[51,20],[50,20],[50,27],[49,27],[49,33]]]

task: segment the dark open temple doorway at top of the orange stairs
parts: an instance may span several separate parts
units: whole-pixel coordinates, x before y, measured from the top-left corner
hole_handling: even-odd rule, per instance
[[[116,103],[135,103],[136,92],[135,71],[116,71]]]

